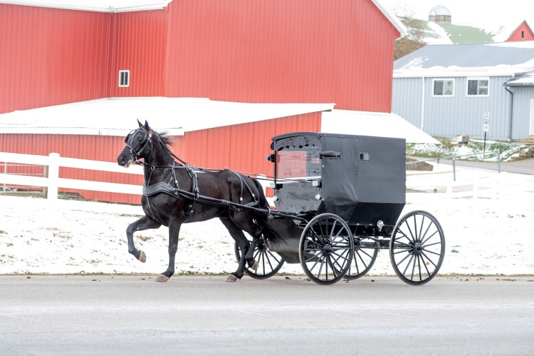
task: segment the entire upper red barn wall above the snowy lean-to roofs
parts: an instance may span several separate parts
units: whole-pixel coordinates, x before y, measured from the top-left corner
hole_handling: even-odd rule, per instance
[[[389,112],[397,37],[371,0],[181,0],[119,14],[0,4],[0,113],[113,96]],[[118,70],[131,71],[129,88]]]

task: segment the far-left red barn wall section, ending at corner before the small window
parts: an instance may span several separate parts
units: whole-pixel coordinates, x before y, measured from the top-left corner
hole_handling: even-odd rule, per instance
[[[0,113],[106,97],[110,16],[0,4]]]

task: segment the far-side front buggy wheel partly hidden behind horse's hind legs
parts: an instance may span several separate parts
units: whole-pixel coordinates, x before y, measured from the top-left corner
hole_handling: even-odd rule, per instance
[[[249,243],[252,242],[250,238],[247,237],[247,239]],[[234,252],[239,262],[241,260],[241,248],[237,243],[234,243]],[[269,277],[273,277],[284,266],[285,262],[284,257],[280,256],[280,254],[268,250],[263,234],[258,238],[252,257],[257,261],[258,269],[254,270],[245,263],[245,274],[257,280],[266,280]]]

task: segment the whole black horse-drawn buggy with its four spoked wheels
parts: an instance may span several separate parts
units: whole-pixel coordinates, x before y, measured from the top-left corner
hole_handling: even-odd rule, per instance
[[[442,227],[426,211],[405,207],[405,140],[329,133],[275,136],[276,210],[254,250],[264,279],[284,262],[300,263],[310,280],[332,284],[369,272],[378,250],[407,284],[424,284],[444,259]],[[241,250],[236,244],[236,257]]]

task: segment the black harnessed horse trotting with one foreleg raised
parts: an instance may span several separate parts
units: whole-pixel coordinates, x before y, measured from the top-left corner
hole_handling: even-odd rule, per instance
[[[134,245],[133,233],[157,229],[161,225],[168,227],[169,266],[156,278],[157,282],[167,282],[175,273],[181,224],[219,218],[243,252],[236,272],[228,275],[227,282],[243,277],[245,263],[255,270],[257,261],[252,257],[252,251],[262,232],[258,222],[264,220],[259,218],[257,211],[268,210],[259,182],[230,170],[208,172],[192,168],[172,154],[168,148],[170,138],[165,133],[152,130],[146,121],[144,125],[139,121],[138,124],[138,129],[132,130],[125,138],[126,146],[117,158],[119,165],[129,167],[135,162],[143,165],[145,172],[141,198],[145,216],[131,223],[126,230],[128,251],[145,262],[145,252]],[[243,206],[251,209],[243,209]],[[252,236],[252,243],[248,242],[243,231]]]

